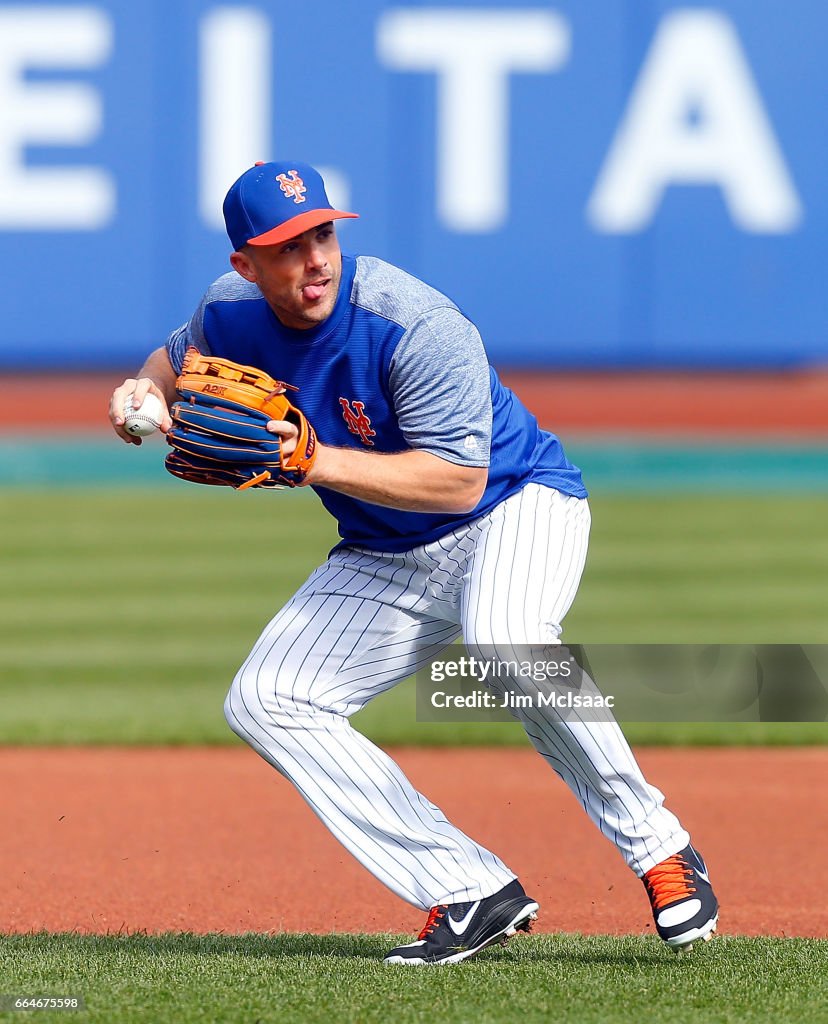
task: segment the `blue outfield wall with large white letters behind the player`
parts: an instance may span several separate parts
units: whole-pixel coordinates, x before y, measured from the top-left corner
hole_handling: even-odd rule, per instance
[[[0,369],[121,366],[324,169],[512,366],[828,362],[824,0],[0,4]]]

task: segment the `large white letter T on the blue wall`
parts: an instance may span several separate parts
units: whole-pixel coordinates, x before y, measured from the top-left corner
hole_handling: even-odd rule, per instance
[[[509,81],[551,72],[569,27],[539,9],[400,8],[380,20],[380,58],[437,76],[437,212],[455,231],[493,231],[509,214]]]

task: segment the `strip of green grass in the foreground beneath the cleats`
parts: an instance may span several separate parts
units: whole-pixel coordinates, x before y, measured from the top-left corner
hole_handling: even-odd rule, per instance
[[[811,1024],[828,1009],[826,941],[718,938],[679,957],[653,938],[542,936],[417,970],[380,962],[396,940],[15,936],[0,944],[0,992],[80,995],[87,1012],[77,1020],[90,1024]],[[0,1013],[3,1022],[21,1019]]]

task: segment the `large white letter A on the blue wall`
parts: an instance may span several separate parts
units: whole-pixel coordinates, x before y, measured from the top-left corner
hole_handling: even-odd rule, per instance
[[[790,231],[801,217],[739,37],[717,11],[677,10],[661,22],[590,220],[600,231],[644,230],[672,184],[717,185],[745,231]]]

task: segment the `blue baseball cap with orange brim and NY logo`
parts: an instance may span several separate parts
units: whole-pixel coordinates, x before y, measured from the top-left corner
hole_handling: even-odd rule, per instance
[[[224,198],[224,223],[236,251],[275,246],[329,220],[358,216],[335,210],[319,172],[293,160],[257,163]]]

